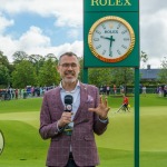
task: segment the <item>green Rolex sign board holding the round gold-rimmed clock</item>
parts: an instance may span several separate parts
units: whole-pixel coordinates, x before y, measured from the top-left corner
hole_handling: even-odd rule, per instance
[[[139,67],[137,0],[85,0],[84,12],[85,68]]]

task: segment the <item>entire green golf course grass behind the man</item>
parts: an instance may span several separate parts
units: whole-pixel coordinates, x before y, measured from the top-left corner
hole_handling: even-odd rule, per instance
[[[0,101],[4,149],[0,167],[45,167],[49,140],[39,136],[42,98]],[[120,110],[120,96],[109,96],[109,125],[96,136],[100,167],[134,167],[135,98],[130,112]],[[140,167],[167,167],[167,98],[140,95]]]

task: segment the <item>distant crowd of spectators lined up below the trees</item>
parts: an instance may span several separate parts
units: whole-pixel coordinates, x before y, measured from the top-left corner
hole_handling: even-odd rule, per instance
[[[32,86],[27,86],[24,89],[18,89],[18,88],[7,88],[7,89],[0,89],[0,100],[11,100],[11,99],[26,99],[28,97],[42,97],[46,91],[49,89],[55,88],[56,86],[50,86],[50,87],[32,87]],[[130,89],[130,88],[129,88]],[[126,86],[120,85],[116,86],[112,85],[105,85],[99,87],[99,92],[100,95],[124,95],[127,94],[129,90]],[[148,91],[148,88],[144,85],[140,85],[140,94],[146,96]],[[132,90],[134,92],[134,90]],[[154,91],[157,94],[159,97],[167,97],[167,85],[164,86],[157,86],[156,90]]]

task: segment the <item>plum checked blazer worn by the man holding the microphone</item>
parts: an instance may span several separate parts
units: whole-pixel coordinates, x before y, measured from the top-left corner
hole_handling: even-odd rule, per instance
[[[45,94],[39,132],[43,139],[51,139],[47,166],[65,167],[68,161],[70,146],[78,166],[96,166],[99,164],[94,132],[101,135],[107,129],[108,122],[101,122],[96,114],[88,111],[90,107],[96,108],[98,101],[98,88],[80,82],[80,106],[73,119],[73,131],[71,136],[66,136],[57,129],[57,121],[65,108],[60,99],[60,87]]]

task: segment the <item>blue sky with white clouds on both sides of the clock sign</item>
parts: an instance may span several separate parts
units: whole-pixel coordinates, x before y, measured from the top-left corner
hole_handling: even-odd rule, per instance
[[[160,68],[167,55],[167,0],[139,2],[140,50],[151,68]],[[0,50],[10,62],[16,51],[82,56],[82,0],[0,0]]]

